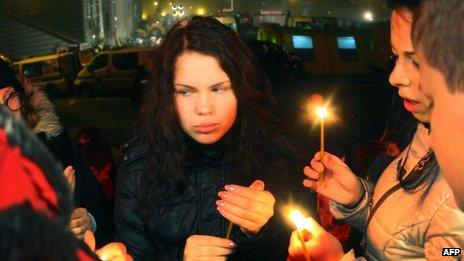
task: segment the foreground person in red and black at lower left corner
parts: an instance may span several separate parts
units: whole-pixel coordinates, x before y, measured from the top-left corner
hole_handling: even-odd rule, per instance
[[[132,260],[121,243],[92,253],[95,244],[89,249],[70,231],[72,191],[62,169],[21,119],[0,104],[2,260]]]

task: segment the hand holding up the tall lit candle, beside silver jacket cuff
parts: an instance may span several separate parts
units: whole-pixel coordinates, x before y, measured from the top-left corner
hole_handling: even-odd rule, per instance
[[[311,166],[304,168],[307,179],[303,185],[345,206],[359,202],[364,195],[359,178],[337,156],[325,152],[321,162],[320,155],[318,152],[311,160]],[[322,182],[318,181],[320,173],[324,175]]]

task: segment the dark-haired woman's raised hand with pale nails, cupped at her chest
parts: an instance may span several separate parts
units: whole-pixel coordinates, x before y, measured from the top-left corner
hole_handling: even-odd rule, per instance
[[[275,198],[264,190],[264,182],[256,180],[250,187],[225,186],[216,201],[219,213],[240,226],[248,234],[257,234],[274,215]]]

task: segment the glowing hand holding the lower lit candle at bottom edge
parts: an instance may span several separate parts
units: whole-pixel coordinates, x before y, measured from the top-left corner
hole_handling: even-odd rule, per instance
[[[310,256],[310,259],[339,261],[344,255],[343,247],[340,242],[313,219],[311,219],[311,223],[311,231],[303,230],[301,232],[306,252]],[[290,237],[287,261],[299,260],[306,260],[305,251],[303,250],[298,232],[293,231]]]

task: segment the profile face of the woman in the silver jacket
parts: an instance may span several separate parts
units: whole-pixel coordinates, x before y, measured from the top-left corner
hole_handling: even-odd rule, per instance
[[[404,107],[421,122],[430,122],[431,104],[420,89],[420,76],[413,60],[414,48],[411,41],[412,13],[393,11],[391,16],[391,45],[396,64],[390,74],[390,83],[398,88]]]

